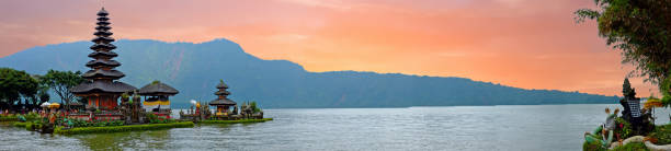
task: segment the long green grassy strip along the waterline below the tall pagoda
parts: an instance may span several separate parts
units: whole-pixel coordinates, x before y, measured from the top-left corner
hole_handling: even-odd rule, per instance
[[[167,128],[184,128],[193,127],[193,123],[172,123],[172,124],[147,124],[147,125],[129,125],[129,126],[107,126],[107,127],[77,127],[70,129],[64,129],[62,127],[56,127],[54,133],[60,135],[78,135],[78,133],[111,133],[111,132],[124,132],[124,131],[137,131],[137,130],[158,130]]]

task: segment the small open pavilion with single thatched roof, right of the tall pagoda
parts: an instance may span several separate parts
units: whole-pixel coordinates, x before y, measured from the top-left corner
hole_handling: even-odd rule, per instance
[[[170,109],[170,96],[180,93],[174,88],[153,81],[150,84],[143,86],[138,94],[145,96],[143,106],[147,112],[159,112],[161,109]],[[148,97],[147,97],[148,96]]]

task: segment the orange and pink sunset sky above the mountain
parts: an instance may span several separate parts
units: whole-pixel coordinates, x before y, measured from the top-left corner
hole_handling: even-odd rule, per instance
[[[2,0],[0,57],[93,38],[234,40],[308,71],[462,77],[523,89],[622,95],[633,70],[573,11],[593,0]],[[653,84],[632,79],[639,96]]]

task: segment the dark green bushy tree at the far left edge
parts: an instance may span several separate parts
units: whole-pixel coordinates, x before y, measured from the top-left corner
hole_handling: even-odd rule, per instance
[[[0,68],[0,101],[2,101],[2,106],[10,107],[14,103],[22,105],[21,97],[35,95],[37,88],[37,80],[25,71]]]

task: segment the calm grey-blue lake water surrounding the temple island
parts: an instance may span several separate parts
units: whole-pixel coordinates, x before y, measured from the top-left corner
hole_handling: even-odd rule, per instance
[[[275,120],[71,137],[3,124],[0,150],[581,150],[604,107],[619,105],[266,109]]]

